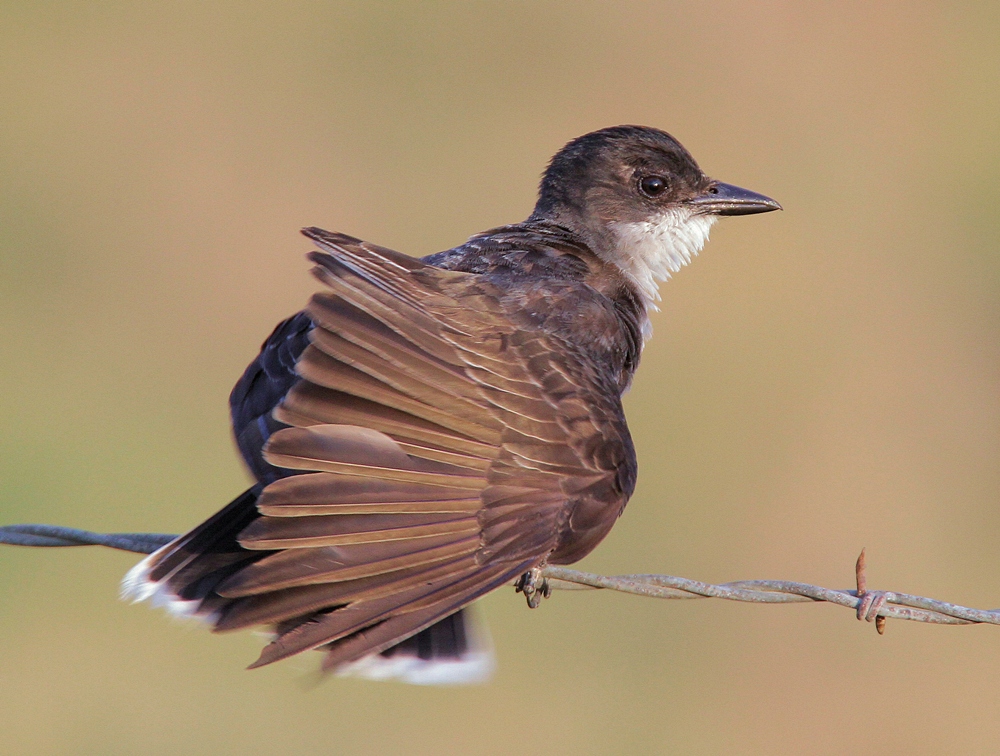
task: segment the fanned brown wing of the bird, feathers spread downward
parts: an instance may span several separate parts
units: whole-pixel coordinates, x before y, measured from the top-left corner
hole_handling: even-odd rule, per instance
[[[239,535],[274,551],[227,578],[220,630],[278,627],[259,666],[381,651],[547,557],[573,561],[631,488],[617,391],[570,345],[519,330],[504,292],[307,229],[326,285]],[[630,473],[631,474],[631,473]]]

